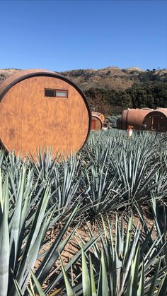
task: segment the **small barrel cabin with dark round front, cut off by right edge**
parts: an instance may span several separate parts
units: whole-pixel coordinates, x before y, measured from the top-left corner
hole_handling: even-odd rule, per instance
[[[167,108],[157,108],[146,114],[143,126],[147,131],[167,131]]]

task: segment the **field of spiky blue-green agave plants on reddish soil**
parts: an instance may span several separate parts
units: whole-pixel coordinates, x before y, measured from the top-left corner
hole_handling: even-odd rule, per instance
[[[167,294],[167,138],[91,134],[68,160],[0,151],[0,295]]]

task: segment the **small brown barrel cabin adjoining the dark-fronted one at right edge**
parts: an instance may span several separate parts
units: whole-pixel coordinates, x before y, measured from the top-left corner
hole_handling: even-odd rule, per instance
[[[124,110],[122,117],[117,119],[117,129],[127,129],[128,126],[133,126],[134,129],[142,130],[144,117],[150,111],[149,108]]]

